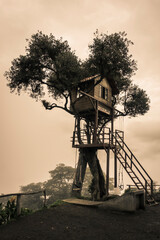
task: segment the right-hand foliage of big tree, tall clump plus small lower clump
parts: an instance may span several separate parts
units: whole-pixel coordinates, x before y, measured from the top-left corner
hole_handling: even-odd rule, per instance
[[[143,89],[132,83],[132,76],[137,70],[136,61],[129,54],[133,42],[127,39],[125,32],[114,34],[94,34],[93,43],[89,45],[89,58],[83,63],[88,76],[100,73],[114,78],[119,90],[114,105],[123,106],[124,111],[116,117],[144,115],[149,110],[150,100]]]

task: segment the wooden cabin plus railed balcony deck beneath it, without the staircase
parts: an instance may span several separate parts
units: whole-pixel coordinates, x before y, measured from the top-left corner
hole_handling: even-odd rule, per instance
[[[118,94],[114,80],[100,75],[85,78],[71,93],[71,111],[75,114],[73,147],[113,147],[113,97]],[[82,126],[82,120],[85,127]],[[102,122],[111,127],[102,127]],[[87,126],[86,126],[87,124]]]

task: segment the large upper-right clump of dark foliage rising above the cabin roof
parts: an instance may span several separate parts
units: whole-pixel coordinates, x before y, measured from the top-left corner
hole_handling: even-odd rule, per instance
[[[89,45],[90,55],[84,67],[91,74],[100,73],[102,77],[112,76],[119,91],[129,87],[131,77],[137,70],[136,62],[129,54],[129,45],[125,32],[114,34],[94,34],[93,43]]]

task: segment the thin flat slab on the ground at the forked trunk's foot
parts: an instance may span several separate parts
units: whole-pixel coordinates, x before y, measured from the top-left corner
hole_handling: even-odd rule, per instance
[[[91,201],[91,200],[84,200],[84,199],[78,199],[78,198],[64,199],[63,202],[81,205],[81,206],[91,206],[91,207],[99,206],[103,204],[103,202],[99,202],[99,201]]]

